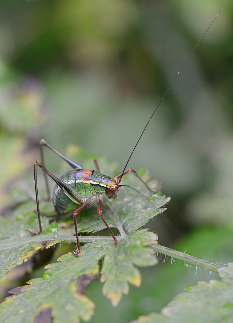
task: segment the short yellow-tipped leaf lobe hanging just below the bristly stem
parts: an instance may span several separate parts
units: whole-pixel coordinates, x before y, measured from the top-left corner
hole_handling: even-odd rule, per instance
[[[104,283],[103,294],[116,306],[122,294],[128,294],[128,283],[139,287],[141,275],[134,266],[153,266],[158,263],[154,252],[145,248],[156,243],[157,235],[145,230],[137,231],[120,241],[105,257],[101,270],[101,282]]]

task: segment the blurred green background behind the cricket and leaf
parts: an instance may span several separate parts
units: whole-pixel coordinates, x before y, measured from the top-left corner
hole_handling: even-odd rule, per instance
[[[2,214],[18,179],[29,176],[33,183],[42,138],[61,152],[78,145],[123,169],[222,5],[220,0],[1,0]],[[181,234],[155,219],[148,227],[159,242],[222,263],[233,260],[232,16],[228,1],[128,165],[147,168],[172,198],[166,216]],[[46,161],[50,171],[60,164],[48,151]],[[25,194],[33,193],[22,185]],[[186,269],[168,260],[142,270],[143,287],[131,287],[116,309],[93,282],[87,291],[96,302],[91,322],[128,322],[159,310],[197,280],[217,277]]]

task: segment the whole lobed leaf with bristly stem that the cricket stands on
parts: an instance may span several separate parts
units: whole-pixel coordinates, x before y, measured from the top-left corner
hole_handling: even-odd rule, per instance
[[[145,170],[141,170],[140,176],[147,181],[148,175]],[[125,182],[149,195],[145,186],[133,174],[126,176]],[[151,188],[156,188],[157,185],[156,181],[149,183]],[[80,255],[61,256],[56,263],[45,267],[48,270],[43,278],[32,279],[28,282],[29,285],[12,290],[13,296],[8,297],[0,306],[0,318],[9,323],[15,322],[15,318],[17,322],[45,321],[51,317],[55,323],[89,320],[93,315],[94,304],[84,294],[90,282],[97,279],[98,262],[102,258],[103,294],[111,300],[113,306],[118,304],[123,294],[128,293],[129,284],[140,286],[141,276],[137,267],[156,265],[158,260],[155,252],[201,264],[195,257],[183,253],[181,255],[175,250],[157,245],[157,235],[148,232],[147,229],[138,231],[149,219],[163,212],[164,208],[161,207],[168,201],[169,198],[161,196],[161,193],[145,199],[126,187],[121,189],[115,200],[105,198],[103,216],[110,227],[119,230],[118,246],[114,246],[109,234],[107,237],[80,234],[80,242],[89,242],[81,246]],[[40,201],[42,211],[47,211],[50,207],[50,204]],[[2,281],[11,268],[22,264],[36,250],[60,242],[76,242],[72,217],[49,223],[48,218],[44,216],[42,234],[30,236],[29,232],[25,232],[25,229],[38,231],[34,208],[35,202],[30,200],[21,203],[15,209],[12,219],[0,218]],[[97,205],[88,207],[78,215],[77,227],[79,233],[96,232],[105,228],[104,222],[97,214]],[[208,262],[205,265],[218,269]],[[152,315],[149,319],[154,317]]]

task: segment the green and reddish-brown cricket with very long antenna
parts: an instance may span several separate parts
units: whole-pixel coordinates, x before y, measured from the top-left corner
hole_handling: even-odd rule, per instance
[[[227,2],[227,1],[226,1]],[[225,2],[225,4],[226,4]],[[222,6],[221,10],[225,6],[225,4]],[[221,12],[219,11],[219,13]],[[219,15],[218,13],[218,15]],[[76,223],[76,216],[83,211],[87,206],[92,204],[93,202],[98,199],[98,207],[97,207],[97,213],[105,223],[109,233],[112,235],[113,240],[114,240],[114,245],[117,247],[118,243],[116,240],[116,237],[114,236],[112,230],[106,223],[103,215],[102,215],[102,203],[103,203],[103,198],[104,194],[109,198],[109,199],[114,199],[117,196],[117,193],[120,189],[121,186],[127,186],[127,185],[121,185],[122,178],[125,174],[132,172],[139,181],[141,181],[147,188],[150,194],[154,194],[157,191],[159,191],[160,187],[158,186],[157,189],[152,190],[149,188],[149,186],[146,184],[146,182],[143,181],[142,178],[137,174],[135,170],[132,168],[127,168],[128,162],[131,159],[132,154],[134,153],[138,142],[140,141],[144,131],[146,130],[150,120],[152,119],[153,115],[157,111],[158,107],[160,106],[161,102],[163,101],[164,97],[166,96],[167,92],[169,91],[170,87],[176,80],[177,76],[180,74],[181,70],[184,68],[186,65],[187,61],[189,58],[192,56],[196,48],[198,47],[199,43],[203,39],[203,37],[206,35],[208,32],[209,28],[212,26],[218,15],[215,17],[211,25],[208,27],[204,35],[201,37],[200,41],[196,45],[196,47],[193,49],[187,60],[184,62],[183,66],[180,68],[178,73],[176,74],[175,78],[167,88],[165,94],[163,95],[162,99],[159,101],[156,109],[154,110],[152,116],[148,120],[144,130],[139,136],[139,139],[137,140],[137,143],[131,152],[127,163],[123,169],[122,172],[119,174],[115,175],[114,177],[111,177],[109,175],[104,175],[101,173],[100,168],[98,166],[98,162],[96,159],[94,160],[94,165],[96,170],[90,170],[83,168],[79,164],[77,164],[75,161],[72,161],[59,151],[57,151],[55,148],[53,148],[47,141],[44,139],[40,140],[40,157],[41,161],[37,160],[34,163],[34,179],[35,179],[35,196],[36,196],[36,206],[37,206],[37,215],[38,215],[38,221],[39,221],[39,231],[38,232],[31,232],[28,231],[31,236],[41,234],[42,233],[42,226],[41,226],[41,220],[40,220],[40,209],[39,209],[39,199],[38,199],[38,188],[37,188],[37,166],[39,166],[44,174],[45,174],[45,182],[46,182],[46,190],[47,190],[47,195],[49,199],[49,189],[48,189],[48,182],[47,182],[47,176],[48,175],[54,182],[55,182],[55,187],[54,187],[54,192],[53,192],[53,205],[55,208],[55,211],[58,214],[67,214],[69,212],[73,212],[73,218],[74,218],[74,226],[75,226],[75,234],[76,234],[76,240],[77,240],[77,252],[73,252],[74,256],[78,256],[80,254],[80,244],[79,244],[79,238],[78,238],[78,228],[77,228],[77,223]],[[45,162],[44,162],[44,152],[43,152],[43,147],[46,146],[49,148],[51,151],[56,153],[58,156],[60,156],[64,161],[66,161],[71,167],[72,170],[66,172],[62,177],[59,179],[56,176],[54,176],[51,172],[49,172],[46,167],[45,167]],[[134,188],[133,188],[134,189]],[[136,189],[134,189],[136,190]],[[137,190],[136,190],[137,191]],[[140,193],[140,192],[139,192]],[[142,194],[143,195],[143,194]]]

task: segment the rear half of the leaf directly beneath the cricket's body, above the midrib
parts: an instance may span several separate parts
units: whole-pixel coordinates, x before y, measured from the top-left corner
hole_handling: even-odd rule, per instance
[[[145,172],[144,172],[145,174]],[[143,174],[142,174],[143,175]],[[145,192],[145,187],[134,175],[131,174],[127,182],[132,186],[137,187],[141,192]],[[139,183],[138,183],[139,182]],[[151,183],[151,187],[157,186],[157,182]],[[115,200],[108,200],[103,204],[103,216],[110,227],[116,227],[121,237],[126,237],[127,234],[136,231],[150,218],[161,213],[164,209],[160,209],[162,205],[169,201],[165,196],[159,197],[155,195],[155,199],[147,201],[133,190],[126,189],[120,192],[120,197]],[[124,194],[123,194],[124,193]],[[139,195],[139,196],[138,196]],[[51,204],[51,203],[50,203]],[[105,229],[106,226],[97,214],[97,203],[86,208],[77,217],[78,231],[80,232],[96,232]],[[48,203],[41,201],[41,210],[47,209]],[[38,219],[32,209],[35,209],[35,202],[32,200],[26,203],[21,203],[14,211],[12,220],[1,218],[0,239],[0,279],[3,281],[10,269],[16,265],[22,264],[34,251],[50,247],[59,242],[76,242],[73,235],[74,225],[72,216],[68,219],[63,219],[58,222],[58,225],[49,221],[46,216],[41,217],[43,233],[31,237],[29,232],[37,232]],[[66,230],[68,228],[68,230]],[[112,239],[109,236],[110,239]],[[80,242],[89,242],[96,238],[80,238]]]

